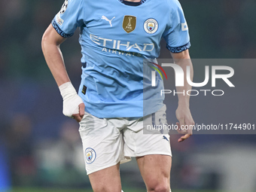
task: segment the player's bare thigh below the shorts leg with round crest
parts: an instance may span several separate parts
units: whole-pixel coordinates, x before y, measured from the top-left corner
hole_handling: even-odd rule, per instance
[[[93,172],[89,175],[94,192],[120,192],[119,163],[115,166]]]

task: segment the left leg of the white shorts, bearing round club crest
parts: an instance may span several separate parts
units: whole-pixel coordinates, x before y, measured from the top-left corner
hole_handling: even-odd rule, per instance
[[[123,135],[107,119],[84,114],[79,128],[87,175],[111,166],[123,158]]]

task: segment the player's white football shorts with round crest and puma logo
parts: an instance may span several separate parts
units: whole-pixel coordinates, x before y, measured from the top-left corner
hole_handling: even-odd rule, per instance
[[[98,118],[85,112],[80,122],[87,175],[126,163],[131,157],[148,154],[172,156],[169,134],[145,134],[143,120],[166,120],[166,105],[154,114],[141,118]]]

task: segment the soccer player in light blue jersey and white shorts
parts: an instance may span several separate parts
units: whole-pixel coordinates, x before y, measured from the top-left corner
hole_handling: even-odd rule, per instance
[[[59,45],[80,28],[82,75],[78,93]],[[63,114],[80,123],[84,160],[93,191],[120,192],[119,165],[136,157],[148,191],[170,191],[169,135],[143,134],[143,121],[166,123],[163,80],[151,87],[150,65],[165,38],[175,63],[192,68],[190,38],[177,0],[66,0],[44,32],[42,50],[63,98]],[[193,76],[191,72],[190,76]],[[177,87],[177,91],[190,90]],[[192,134],[189,96],[179,94],[178,142]]]

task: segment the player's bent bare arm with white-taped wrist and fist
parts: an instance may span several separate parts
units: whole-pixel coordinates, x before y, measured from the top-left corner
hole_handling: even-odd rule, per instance
[[[59,45],[65,40],[66,38],[62,38],[50,24],[44,32],[41,47],[47,66],[53,74],[53,78],[59,86],[63,97],[63,114],[68,117],[74,117],[75,120],[80,122],[84,116],[84,102],[76,93],[66,72],[62,52],[59,48]]]

